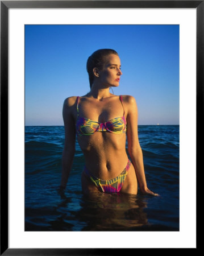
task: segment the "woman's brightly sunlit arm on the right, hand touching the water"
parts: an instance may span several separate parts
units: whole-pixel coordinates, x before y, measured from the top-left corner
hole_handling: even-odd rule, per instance
[[[138,108],[135,98],[127,96],[127,141],[128,141],[128,153],[130,154],[132,164],[135,167],[136,176],[139,183],[139,188],[142,193],[155,195],[158,194],[150,191],[147,187],[147,181],[145,179],[143,153],[138,139]]]

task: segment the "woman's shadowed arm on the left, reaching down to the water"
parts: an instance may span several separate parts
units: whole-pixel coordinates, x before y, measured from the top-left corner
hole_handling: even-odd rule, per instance
[[[76,102],[76,97],[66,98],[63,105],[63,119],[65,128],[65,141],[62,158],[62,174],[61,174],[61,189],[65,189],[68,181],[69,173],[72,168],[74,152],[75,152],[75,139],[76,131],[73,118],[73,106]]]

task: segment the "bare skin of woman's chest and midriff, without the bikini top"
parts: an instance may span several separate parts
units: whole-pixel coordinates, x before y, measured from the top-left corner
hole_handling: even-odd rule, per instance
[[[78,112],[74,111],[76,130],[79,127],[79,123],[77,123],[79,118],[81,118],[80,121],[83,121],[83,118],[85,118],[85,121],[86,119],[95,121],[95,125],[97,125],[97,122],[98,125],[103,123],[104,125],[101,125],[101,127],[105,127],[106,122],[114,118],[116,118],[115,121],[123,118],[126,122],[125,106],[119,96],[111,96],[103,98],[103,100],[80,97],[77,100]],[[126,154],[125,125],[126,123],[122,125],[123,131],[120,132],[116,132],[116,129],[111,132],[111,128],[107,124],[107,130],[104,129],[106,131],[91,132],[91,135],[78,134],[78,143],[85,156],[86,168],[93,175],[101,179],[113,179],[126,167],[128,158]],[[110,128],[110,131],[108,128]]]

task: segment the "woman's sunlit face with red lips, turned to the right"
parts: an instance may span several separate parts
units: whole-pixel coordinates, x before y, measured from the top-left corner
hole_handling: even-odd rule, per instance
[[[122,72],[120,70],[120,58],[118,55],[110,54],[106,57],[106,61],[102,71],[99,71],[100,82],[108,86],[118,86]]]

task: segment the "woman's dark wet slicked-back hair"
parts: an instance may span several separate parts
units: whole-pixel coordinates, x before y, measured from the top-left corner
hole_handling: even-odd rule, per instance
[[[88,61],[86,63],[86,70],[89,74],[89,83],[90,83],[90,88],[91,85],[93,84],[94,81],[94,72],[93,69],[97,68],[99,71],[103,69],[107,56],[114,54],[118,55],[114,49],[98,49],[94,53],[89,56]]]

